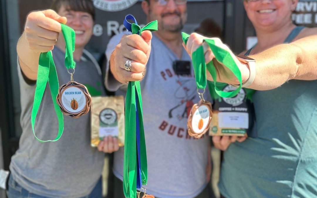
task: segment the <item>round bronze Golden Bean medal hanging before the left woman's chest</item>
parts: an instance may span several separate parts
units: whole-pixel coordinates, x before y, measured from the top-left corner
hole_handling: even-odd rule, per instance
[[[72,72],[69,72],[72,70]],[[79,118],[89,112],[91,96],[87,87],[73,80],[75,69],[68,69],[70,82],[60,86],[56,97],[56,102],[64,115],[72,118]]]

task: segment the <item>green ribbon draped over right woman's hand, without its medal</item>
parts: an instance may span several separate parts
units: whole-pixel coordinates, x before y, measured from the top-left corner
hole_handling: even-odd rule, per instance
[[[182,37],[183,37],[183,41],[186,45],[189,35],[182,32]],[[191,54],[191,59],[193,62],[197,88],[198,89],[205,89],[206,84],[207,84],[207,80],[206,80],[206,68],[207,68],[209,73],[212,76],[213,81],[214,81],[216,93],[219,96],[224,97],[224,98],[230,98],[230,97],[235,96],[237,93],[239,93],[241,86],[242,86],[242,77],[241,77],[241,72],[239,70],[239,67],[237,66],[237,64],[233,60],[233,58],[231,57],[231,54],[227,50],[215,45],[214,40],[204,39],[204,42],[206,42],[208,44],[208,46],[210,47],[212,53],[215,55],[215,59],[218,62],[223,63],[226,67],[228,67],[228,69],[236,76],[236,78],[240,82],[240,85],[236,90],[231,91],[231,92],[224,92],[221,89],[219,89],[216,86],[216,81],[217,81],[216,68],[215,68],[212,61],[210,61],[206,65],[205,57],[204,57],[204,48],[203,48],[203,46],[200,46],[199,48],[197,48],[196,51],[194,51]]]

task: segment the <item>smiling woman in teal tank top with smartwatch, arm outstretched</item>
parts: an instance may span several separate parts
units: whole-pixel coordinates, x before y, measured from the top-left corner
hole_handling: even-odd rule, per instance
[[[226,198],[316,197],[317,28],[292,23],[298,0],[243,3],[258,38],[253,48],[241,53],[248,57],[238,59],[219,39],[212,40],[230,52],[243,84],[258,90],[252,97],[256,135],[242,143],[215,143],[227,149],[220,192]],[[192,54],[204,39],[209,38],[191,34],[187,52]],[[215,52],[203,46],[206,63],[213,61],[216,67],[217,81],[238,85]]]

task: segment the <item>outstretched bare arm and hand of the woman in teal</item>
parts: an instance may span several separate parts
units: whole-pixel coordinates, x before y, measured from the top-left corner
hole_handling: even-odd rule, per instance
[[[316,80],[317,79],[317,31],[315,35],[310,35],[289,44],[281,44],[269,48],[259,54],[251,55],[250,58],[256,60],[256,77],[248,87],[256,90],[269,90],[281,86],[287,80]],[[199,46],[203,44],[203,37],[196,33],[190,35],[186,46],[187,52],[191,55]],[[231,56],[238,65],[242,82],[249,78],[249,66],[240,63],[231,50],[219,39],[214,39],[218,47],[230,51]],[[217,81],[228,84],[239,84],[236,77],[222,63],[214,59],[214,54],[207,45],[204,46],[206,62],[213,61],[217,71]],[[207,79],[212,80],[209,72]]]

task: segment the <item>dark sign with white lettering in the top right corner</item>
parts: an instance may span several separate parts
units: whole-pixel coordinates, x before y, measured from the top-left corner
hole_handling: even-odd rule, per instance
[[[317,0],[299,1],[292,20],[296,25],[317,27]]]

